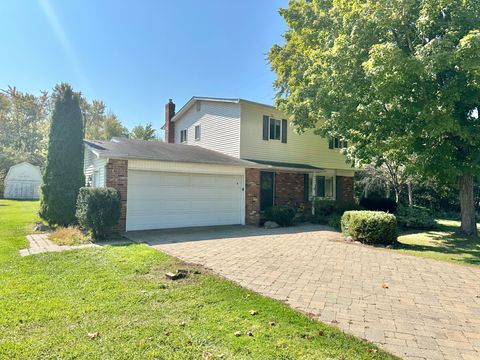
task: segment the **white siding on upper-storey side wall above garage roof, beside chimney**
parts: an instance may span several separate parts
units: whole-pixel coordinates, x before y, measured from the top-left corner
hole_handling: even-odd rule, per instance
[[[200,139],[195,126],[200,125]],[[180,144],[180,131],[187,130],[184,144],[198,145],[236,158],[240,157],[240,104],[201,101],[175,121],[175,143]]]

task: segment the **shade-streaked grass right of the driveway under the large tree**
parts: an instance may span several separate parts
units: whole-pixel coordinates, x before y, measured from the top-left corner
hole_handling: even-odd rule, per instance
[[[480,265],[480,240],[456,234],[460,222],[437,220],[432,230],[400,234],[396,251],[466,265]],[[480,228],[480,227],[479,227]]]

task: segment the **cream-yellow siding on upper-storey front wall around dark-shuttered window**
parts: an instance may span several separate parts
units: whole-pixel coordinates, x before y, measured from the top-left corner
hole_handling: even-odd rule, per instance
[[[273,119],[287,118],[285,114],[271,107],[242,103],[240,142],[242,159],[307,164],[325,169],[350,170],[353,173],[351,165],[345,162],[345,156],[340,150],[328,148],[327,139],[315,135],[312,131],[298,134],[290,121],[287,143],[263,140],[264,115]]]

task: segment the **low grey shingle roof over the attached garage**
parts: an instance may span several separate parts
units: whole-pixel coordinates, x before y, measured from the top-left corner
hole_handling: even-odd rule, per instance
[[[123,138],[113,138],[110,141],[84,140],[84,143],[97,156],[104,158],[259,167],[250,161],[193,145]]]

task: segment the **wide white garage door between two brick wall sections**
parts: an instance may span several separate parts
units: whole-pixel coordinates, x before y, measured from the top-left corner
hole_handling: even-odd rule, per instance
[[[127,231],[241,224],[243,176],[128,172]]]

